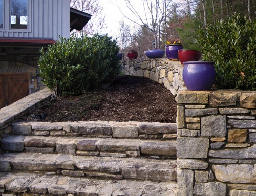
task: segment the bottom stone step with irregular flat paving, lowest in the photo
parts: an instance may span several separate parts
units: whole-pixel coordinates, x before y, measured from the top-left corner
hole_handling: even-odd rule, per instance
[[[175,182],[102,180],[35,173],[0,173],[2,195],[176,196]],[[25,195],[23,194],[23,195]]]

